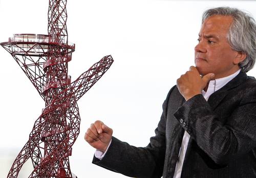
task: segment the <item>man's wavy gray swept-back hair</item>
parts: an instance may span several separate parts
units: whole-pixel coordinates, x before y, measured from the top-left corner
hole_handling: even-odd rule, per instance
[[[219,7],[208,9],[203,13],[202,23],[210,16],[231,16],[233,21],[227,33],[227,40],[233,50],[246,54],[239,63],[242,71],[252,69],[256,59],[256,23],[251,15],[236,8]]]

